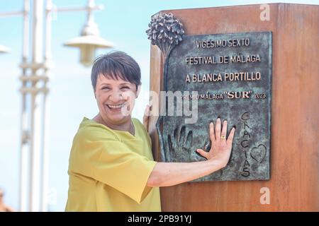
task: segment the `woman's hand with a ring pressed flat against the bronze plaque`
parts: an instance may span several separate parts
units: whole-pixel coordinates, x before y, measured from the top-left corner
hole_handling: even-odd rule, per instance
[[[235,127],[230,130],[228,138],[227,133],[227,121],[223,121],[223,130],[221,128],[220,118],[216,120],[216,128],[214,128],[213,122],[209,124],[209,136],[211,138],[211,150],[206,152],[203,149],[198,148],[196,151],[206,157],[208,160],[217,161],[221,167],[225,167],[228,164],[230,153],[233,145],[233,138],[235,133]]]

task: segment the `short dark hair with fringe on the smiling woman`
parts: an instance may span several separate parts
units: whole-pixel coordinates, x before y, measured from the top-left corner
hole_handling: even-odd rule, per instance
[[[140,66],[125,52],[110,52],[103,54],[94,60],[91,71],[91,83],[95,91],[96,81],[99,75],[118,80],[118,78],[134,83],[136,89],[140,85]]]

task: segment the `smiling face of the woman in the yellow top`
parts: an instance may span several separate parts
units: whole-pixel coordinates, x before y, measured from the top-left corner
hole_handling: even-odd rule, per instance
[[[103,121],[116,125],[130,119],[138,90],[134,83],[99,75],[94,94]]]

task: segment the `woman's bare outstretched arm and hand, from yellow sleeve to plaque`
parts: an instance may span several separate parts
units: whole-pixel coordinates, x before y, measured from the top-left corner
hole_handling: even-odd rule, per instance
[[[223,130],[221,130],[221,121],[218,118],[216,128],[214,128],[213,123],[209,126],[211,150],[209,152],[202,149],[196,150],[207,160],[201,162],[157,162],[147,180],[147,186],[181,184],[204,177],[225,167],[230,158],[235,128],[231,129],[227,139],[226,133],[227,121],[223,122]]]

